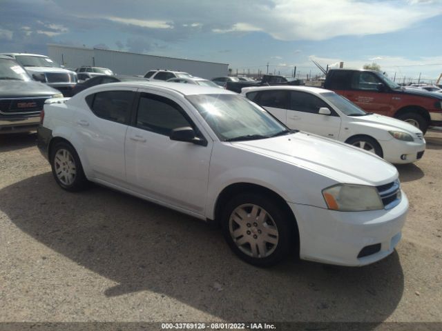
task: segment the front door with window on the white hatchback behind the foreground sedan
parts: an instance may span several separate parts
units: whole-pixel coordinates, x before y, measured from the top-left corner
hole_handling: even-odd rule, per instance
[[[328,108],[329,115],[319,114],[319,108]],[[287,126],[324,137],[338,139],[340,117],[328,103],[309,92],[290,91]]]

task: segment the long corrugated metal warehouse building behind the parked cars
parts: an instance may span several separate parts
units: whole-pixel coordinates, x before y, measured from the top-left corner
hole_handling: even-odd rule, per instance
[[[49,43],[48,56],[66,68],[96,66],[109,68],[115,74],[144,75],[149,70],[167,69],[189,72],[196,77],[212,79],[227,76],[229,64],[173,57],[158,57],[148,54],[65,46]]]

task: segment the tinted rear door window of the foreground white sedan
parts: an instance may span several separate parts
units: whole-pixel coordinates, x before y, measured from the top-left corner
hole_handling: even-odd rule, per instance
[[[133,101],[132,91],[95,93],[92,111],[97,117],[118,123],[127,123]],[[86,102],[88,100],[86,99]]]

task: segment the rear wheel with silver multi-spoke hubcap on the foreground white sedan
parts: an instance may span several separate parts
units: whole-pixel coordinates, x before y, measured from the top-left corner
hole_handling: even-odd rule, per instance
[[[77,152],[65,142],[57,143],[51,152],[50,165],[55,181],[68,191],[79,191],[88,183]]]

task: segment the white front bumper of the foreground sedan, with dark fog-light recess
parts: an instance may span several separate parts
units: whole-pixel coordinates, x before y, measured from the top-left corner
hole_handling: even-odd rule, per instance
[[[361,266],[379,261],[394,251],[408,210],[401,203],[391,210],[338,212],[289,203],[298,223],[300,258],[335,265]],[[363,248],[380,244],[374,254],[358,257]]]

